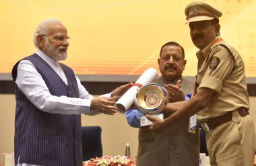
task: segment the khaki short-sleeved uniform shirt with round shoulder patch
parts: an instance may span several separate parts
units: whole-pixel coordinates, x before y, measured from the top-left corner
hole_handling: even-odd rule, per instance
[[[234,55],[234,60],[228,50],[220,44],[228,46]],[[198,112],[199,122],[222,116],[237,108],[249,109],[245,65],[241,55],[232,46],[218,36],[211,44],[197,52],[197,58],[197,91],[200,88],[216,91],[208,106]]]

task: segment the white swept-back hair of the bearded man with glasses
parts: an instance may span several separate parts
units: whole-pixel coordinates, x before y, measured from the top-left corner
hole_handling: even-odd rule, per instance
[[[39,47],[38,41],[37,41],[37,36],[38,35],[47,35],[48,33],[48,27],[51,24],[62,24],[62,22],[59,19],[55,19],[55,18],[49,18],[49,19],[45,19],[43,22],[41,22],[38,27],[36,28],[36,32],[34,32],[34,46],[36,46],[36,48]]]

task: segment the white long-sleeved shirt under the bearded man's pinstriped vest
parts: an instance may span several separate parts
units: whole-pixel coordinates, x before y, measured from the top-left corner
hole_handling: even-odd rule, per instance
[[[67,78],[59,65],[59,62],[44,54],[41,50],[36,52],[43,60],[48,63],[53,70],[61,77],[63,82],[67,85]],[[76,76],[75,76],[76,77]],[[78,77],[76,77],[79,97],[55,96],[51,95],[42,76],[38,73],[34,65],[29,60],[21,60],[17,69],[17,78],[15,83],[26,97],[43,112],[51,114],[87,114],[96,115],[100,112],[90,110],[90,104],[93,96],[81,84]],[[111,93],[104,96],[110,97]],[[37,166],[26,163],[19,163],[18,166]]]

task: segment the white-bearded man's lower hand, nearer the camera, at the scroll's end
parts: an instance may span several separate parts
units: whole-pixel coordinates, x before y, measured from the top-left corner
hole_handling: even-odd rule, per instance
[[[114,115],[117,113],[115,99],[116,97],[95,97],[91,101],[91,110],[97,110],[103,114]]]

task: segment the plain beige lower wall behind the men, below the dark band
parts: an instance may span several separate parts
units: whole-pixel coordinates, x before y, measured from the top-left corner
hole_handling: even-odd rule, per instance
[[[251,116],[256,124],[256,97],[250,97]],[[0,95],[0,162],[3,153],[13,153],[14,95]],[[253,112],[254,111],[254,112]],[[137,153],[137,129],[130,128],[123,114],[82,116],[83,126],[101,126],[103,155],[124,155],[125,144],[131,145],[131,157]]]

